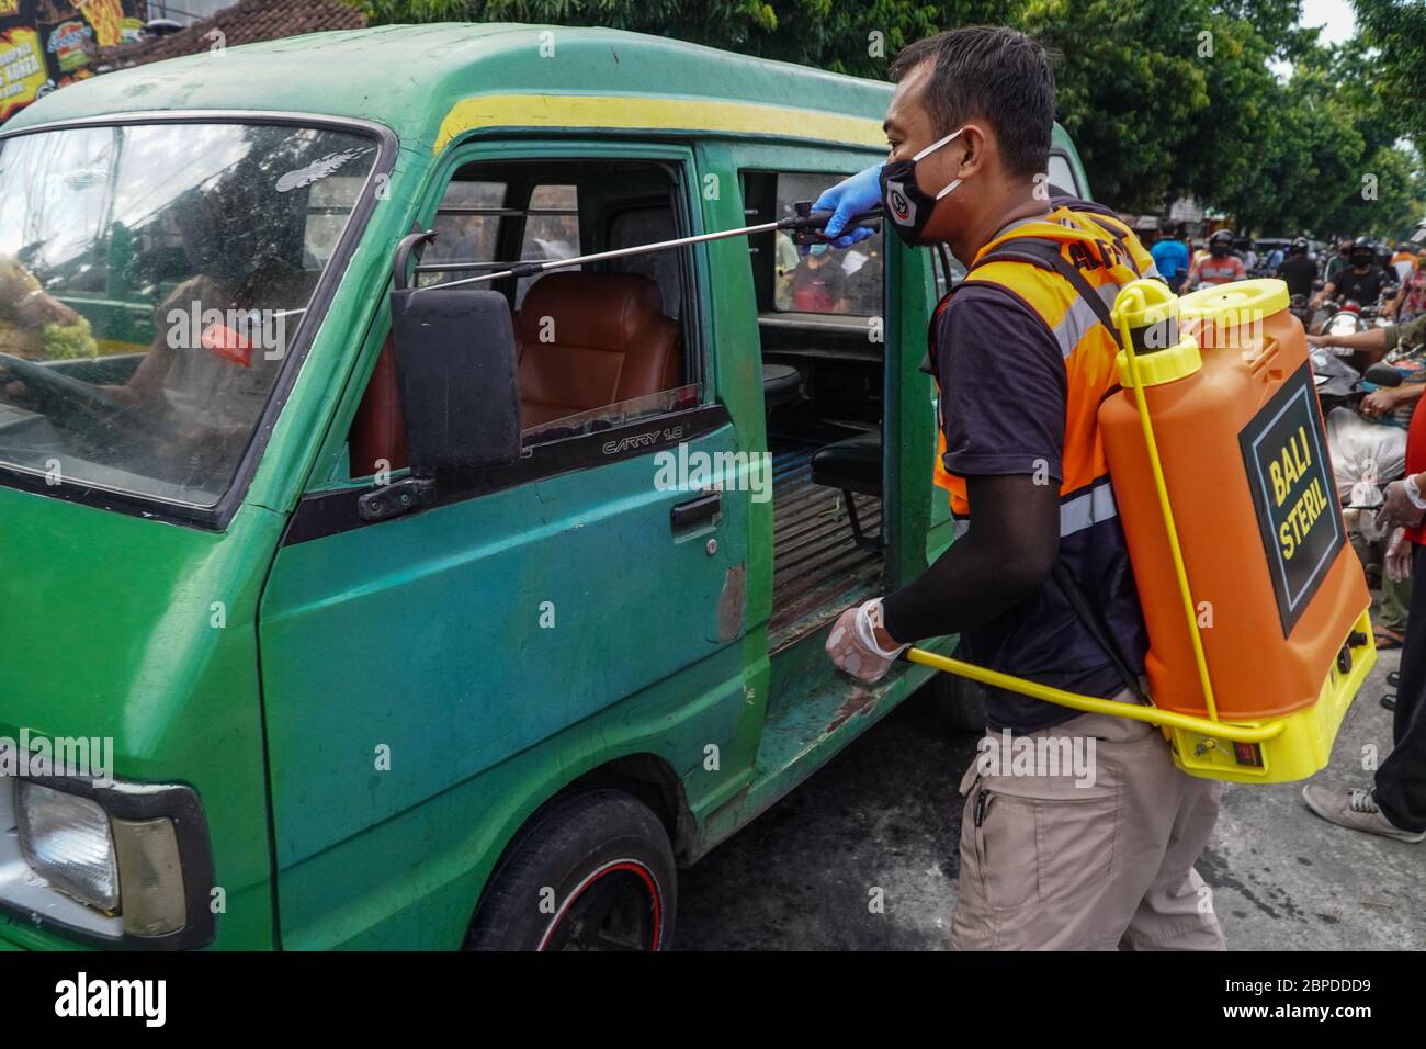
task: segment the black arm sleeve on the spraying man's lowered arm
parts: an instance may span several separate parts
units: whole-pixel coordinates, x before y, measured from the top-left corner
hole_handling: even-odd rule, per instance
[[[898,644],[980,627],[1028,598],[1060,552],[1060,488],[1031,474],[965,478],[971,524],[915,581],[881,604]]]

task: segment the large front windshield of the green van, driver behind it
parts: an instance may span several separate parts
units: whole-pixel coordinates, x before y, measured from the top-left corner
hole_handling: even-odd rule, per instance
[[[376,154],[278,124],[0,140],[0,464],[217,504]]]

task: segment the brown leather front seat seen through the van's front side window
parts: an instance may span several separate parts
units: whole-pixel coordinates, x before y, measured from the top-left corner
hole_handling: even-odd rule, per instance
[[[540,277],[515,314],[515,338],[525,428],[679,385],[679,325],[642,274]]]

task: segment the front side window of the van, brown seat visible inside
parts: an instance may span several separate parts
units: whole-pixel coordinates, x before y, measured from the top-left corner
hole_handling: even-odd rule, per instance
[[[434,284],[669,240],[687,224],[679,171],[633,160],[468,164],[452,177],[418,280]],[[502,277],[526,445],[702,404],[689,248]],[[405,465],[392,348],[382,350],[348,435],[351,475]]]

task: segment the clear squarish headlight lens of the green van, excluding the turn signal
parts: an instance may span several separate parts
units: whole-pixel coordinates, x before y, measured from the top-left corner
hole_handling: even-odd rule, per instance
[[[118,911],[118,858],[104,808],[29,779],[16,789],[20,855],[30,869],[81,903]]]

